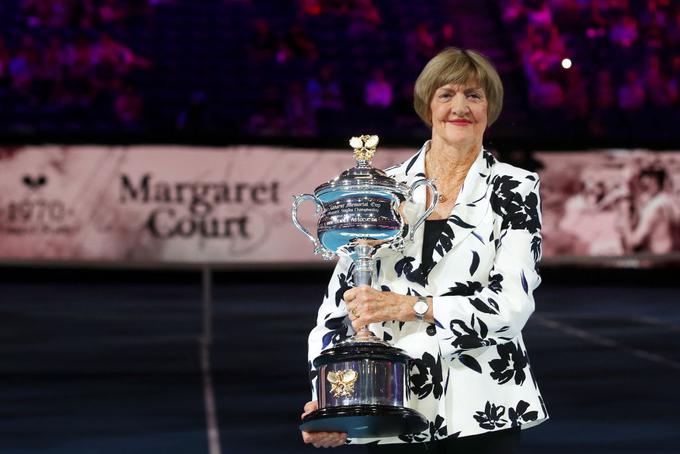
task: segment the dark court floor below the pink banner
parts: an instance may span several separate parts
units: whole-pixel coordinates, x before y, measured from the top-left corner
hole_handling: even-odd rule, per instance
[[[324,284],[268,275],[216,284],[222,453],[314,452],[297,422]],[[200,279],[0,281],[0,453],[209,452]],[[680,452],[680,282],[652,284],[544,281],[525,340],[551,420],[526,454]]]

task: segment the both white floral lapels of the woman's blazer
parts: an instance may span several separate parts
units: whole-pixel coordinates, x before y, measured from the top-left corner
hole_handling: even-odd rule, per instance
[[[426,178],[425,155],[429,148],[430,141],[427,141],[416,155],[400,166],[401,168],[395,175],[395,178],[404,181],[408,185]],[[407,243],[404,257],[395,266],[395,271],[398,275],[404,273],[408,280],[420,283],[423,286],[427,285],[430,271],[439,263],[442,257],[453,250],[468,235],[475,233],[475,228],[489,209],[488,189],[491,167],[494,162],[493,156],[488,151],[480,150],[477,159],[465,177],[446,226],[435,244],[431,266],[425,266],[422,263],[423,236],[425,231],[423,224],[415,232],[414,241]],[[425,205],[427,201],[426,188],[424,186],[418,188],[413,195],[413,199],[413,203],[406,202],[404,207],[404,217],[411,228],[427,209]]]

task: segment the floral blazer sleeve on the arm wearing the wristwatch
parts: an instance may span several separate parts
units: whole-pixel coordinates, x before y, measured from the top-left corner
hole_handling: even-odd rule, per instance
[[[533,292],[541,282],[540,182],[535,173],[521,182],[501,178],[505,180],[491,201],[501,226],[494,238],[489,283],[466,288],[459,282],[455,283],[459,294],[433,297],[437,337],[442,356],[449,361],[469,350],[510,341],[534,311]],[[504,191],[504,184],[515,187]],[[470,355],[460,359],[475,361]]]

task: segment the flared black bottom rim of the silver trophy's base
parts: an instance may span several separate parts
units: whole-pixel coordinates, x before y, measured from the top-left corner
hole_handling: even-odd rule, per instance
[[[307,415],[300,424],[306,432],[346,432],[350,438],[382,438],[417,434],[428,428],[417,411],[387,405],[327,407]]]

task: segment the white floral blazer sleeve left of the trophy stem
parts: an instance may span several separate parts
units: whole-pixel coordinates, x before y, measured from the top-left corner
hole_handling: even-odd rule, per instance
[[[316,400],[317,371],[312,364],[322,350],[354,334],[347,317],[347,307],[342,295],[352,288],[354,265],[348,258],[341,258],[335,266],[316,317],[316,325],[309,333],[307,367],[312,386],[312,400]]]

